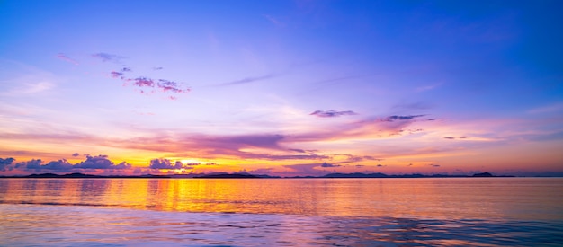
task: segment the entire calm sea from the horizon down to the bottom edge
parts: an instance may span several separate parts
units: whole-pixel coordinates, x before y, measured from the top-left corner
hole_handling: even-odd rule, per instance
[[[2,246],[562,246],[563,178],[0,179]]]

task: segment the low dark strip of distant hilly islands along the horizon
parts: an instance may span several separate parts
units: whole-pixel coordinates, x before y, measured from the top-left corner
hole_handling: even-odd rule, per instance
[[[384,173],[329,173],[324,176],[294,176],[283,177],[285,179],[362,179],[362,178],[492,178],[492,177],[514,177],[514,176],[496,176],[489,172],[475,173],[473,175],[448,175],[448,174],[402,174],[402,175],[388,175]],[[68,173],[68,174],[55,174],[55,173],[42,173],[31,174],[25,176],[0,176],[2,178],[21,178],[21,179],[281,179],[279,176],[270,175],[255,175],[250,173],[210,173],[210,174],[171,174],[171,175],[92,175],[84,173]]]

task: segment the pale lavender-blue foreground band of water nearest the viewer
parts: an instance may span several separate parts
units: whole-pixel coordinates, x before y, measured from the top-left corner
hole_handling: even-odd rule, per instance
[[[140,211],[0,205],[0,244],[558,246],[562,222]],[[559,245],[560,246],[560,245]]]

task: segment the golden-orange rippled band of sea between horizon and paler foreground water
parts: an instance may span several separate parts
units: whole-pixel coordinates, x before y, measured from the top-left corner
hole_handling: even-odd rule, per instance
[[[557,179],[550,188],[510,178],[3,181],[4,203],[181,212],[458,218],[462,210],[467,218],[537,218],[535,211],[557,212],[563,203],[556,197],[563,189]],[[507,182],[514,191],[505,191]],[[505,203],[511,200],[518,203]]]

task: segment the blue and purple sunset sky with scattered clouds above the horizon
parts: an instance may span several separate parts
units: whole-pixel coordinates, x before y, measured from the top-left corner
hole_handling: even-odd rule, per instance
[[[563,175],[561,1],[0,1],[0,175]]]

